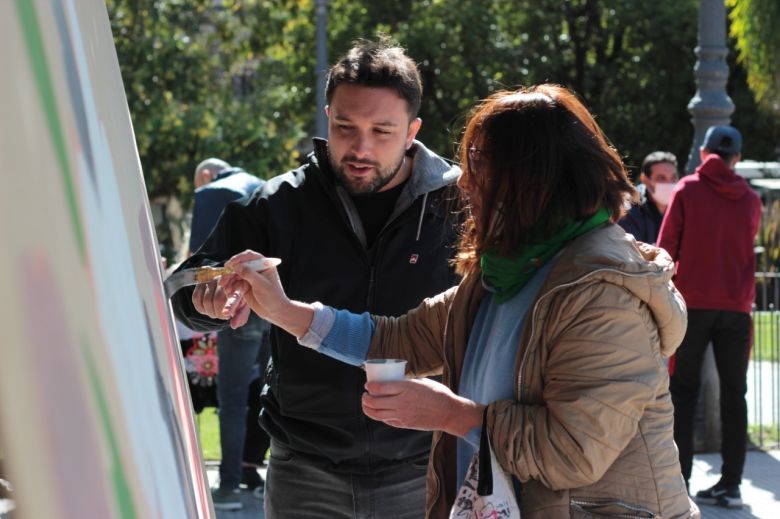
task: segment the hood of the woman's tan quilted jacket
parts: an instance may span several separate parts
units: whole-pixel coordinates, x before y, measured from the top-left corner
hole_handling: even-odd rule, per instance
[[[668,357],[687,327],[685,301],[672,284],[673,274],[674,262],[665,250],[605,224],[564,249],[540,293],[593,279],[619,285],[648,305],[658,325],[661,353]]]

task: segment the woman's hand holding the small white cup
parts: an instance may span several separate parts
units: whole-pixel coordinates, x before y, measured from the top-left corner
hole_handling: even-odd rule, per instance
[[[444,384],[427,378],[368,382],[363,395],[366,416],[393,427],[444,431],[465,436],[482,424],[485,406],[460,397]]]

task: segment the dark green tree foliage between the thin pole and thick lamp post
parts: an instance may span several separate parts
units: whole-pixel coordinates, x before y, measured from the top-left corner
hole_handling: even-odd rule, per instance
[[[687,155],[696,8],[694,0],[332,0],[328,31],[332,57],[379,32],[407,48],[424,83],[420,138],[445,156],[477,101],[547,81],[573,88],[636,163],[657,148]],[[310,55],[300,63],[313,67]]]

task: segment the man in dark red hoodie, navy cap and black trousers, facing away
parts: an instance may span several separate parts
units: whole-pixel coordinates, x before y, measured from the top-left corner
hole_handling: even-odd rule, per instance
[[[739,485],[747,442],[747,366],[755,297],[754,241],[761,201],[734,172],[742,136],[713,126],[704,136],[702,163],[683,178],[669,202],[658,246],[677,263],[674,282],[688,305],[688,329],[675,355],[670,390],[674,439],[686,485],[693,462],[693,415],[702,359],[712,342],[720,377],[720,481],[696,494],[700,503],[742,506]]]

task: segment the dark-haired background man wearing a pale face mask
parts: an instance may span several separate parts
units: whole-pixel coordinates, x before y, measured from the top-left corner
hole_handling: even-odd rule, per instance
[[[642,161],[637,186],[639,203],[629,209],[618,224],[637,241],[655,245],[661,221],[677,184],[677,157],[668,151],[654,151]]]

